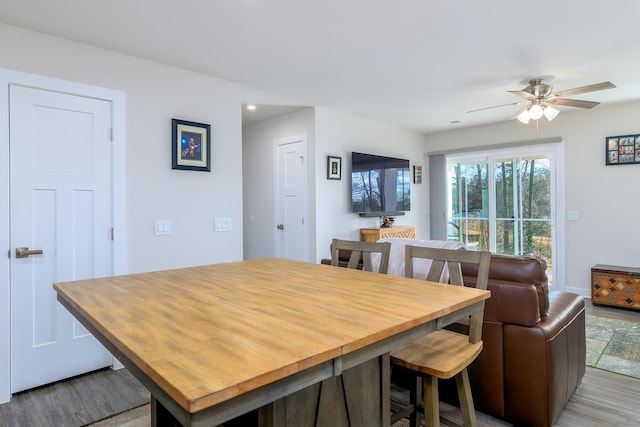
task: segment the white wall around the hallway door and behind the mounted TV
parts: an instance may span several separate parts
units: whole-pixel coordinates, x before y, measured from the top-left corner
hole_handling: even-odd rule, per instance
[[[306,133],[309,139],[309,200],[312,232],[311,262],[329,258],[333,237],[359,240],[363,227],[377,227],[378,218],[351,212],[351,151],[410,159],[424,165],[424,136],[357,117],[311,108],[245,126],[244,194],[245,258],[275,255],[273,141]],[[327,156],[342,157],[342,180],[328,180]],[[253,215],[254,223],[249,222]],[[397,225],[415,225],[418,237],[427,237],[426,185],[411,186],[411,212],[396,218]]]

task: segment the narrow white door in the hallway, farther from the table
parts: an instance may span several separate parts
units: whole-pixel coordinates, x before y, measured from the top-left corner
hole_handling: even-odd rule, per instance
[[[276,149],[276,254],[308,261],[306,137],[283,139]]]

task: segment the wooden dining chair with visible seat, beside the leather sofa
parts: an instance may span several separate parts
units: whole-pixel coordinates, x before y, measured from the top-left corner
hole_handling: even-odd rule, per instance
[[[426,248],[407,245],[405,248],[405,276],[414,277],[413,261],[415,258],[433,260],[426,279],[438,282],[443,272],[448,273],[448,282],[464,286],[460,263],[478,264],[476,288],[487,289],[489,263],[491,253],[487,251],[464,251],[440,248]],[[445,267],[447,270],[445,270]],[[468,324],[468,335],[441,329],[422,338],[414,340],[391,351],[392,367],[401,367],[415,376],[422,378],[422,394],[424,398],[425,427],[440,425],[440,408],[438,396],[438,379],[455,377],[460,400],[460,409],[464,426],[476,426],[476,415],[469,385],[467,367],[482,351],[482,320],[484,303],[478,311],[458,323]],[[392,417],[392,424],[406,415],[410,416],[411,427],[418,427],[419,417],[417,396],[420,381],[415,378],[410,390],[410,403]],[[447,424],[453,424],[446,420]]]

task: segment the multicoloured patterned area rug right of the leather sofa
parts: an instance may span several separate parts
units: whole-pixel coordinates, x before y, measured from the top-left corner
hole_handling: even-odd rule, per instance
[[[640,321],[586,317],[587,366],[640,378]]]

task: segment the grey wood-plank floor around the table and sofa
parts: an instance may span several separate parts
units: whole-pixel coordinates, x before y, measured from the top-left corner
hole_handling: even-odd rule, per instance
[[[640,322],[640,312],[594,307],[590,301],[587,314]],[[0,405],[0,427],[82,426],[148,401],[149,393],[125,369],[99,371],[13,396]],[[638,426],[638,402],[640,379],[587,367],[556,427]],[[445,405],[442,412],[456,419],[459,410]],[[477,416],[479,426],[510,425]]]

